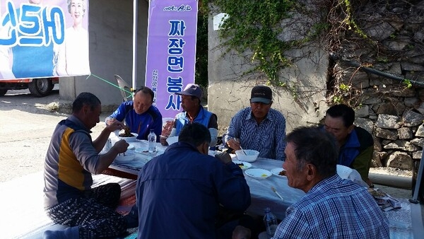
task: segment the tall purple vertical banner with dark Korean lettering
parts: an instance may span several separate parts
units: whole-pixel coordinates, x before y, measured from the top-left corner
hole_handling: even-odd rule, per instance
[[[196,0],[150,1],[145,85],[163,117],[181,111],[181,96],[174,93],[194,83],[196,33]]]

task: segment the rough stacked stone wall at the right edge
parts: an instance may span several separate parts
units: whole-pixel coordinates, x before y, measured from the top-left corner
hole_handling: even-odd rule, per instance
[[[347,35],[338,52],[343,61],[333,62],[334,86],[348,86],[338,94],[355,107],[355,124],[374,136],[374,167],[411,170],[418,168],[423,153],[424,1],[411,2],[363,6],[355,17],[370,39],[358,43]],[[352,67],[352,62],[367,68]]]

